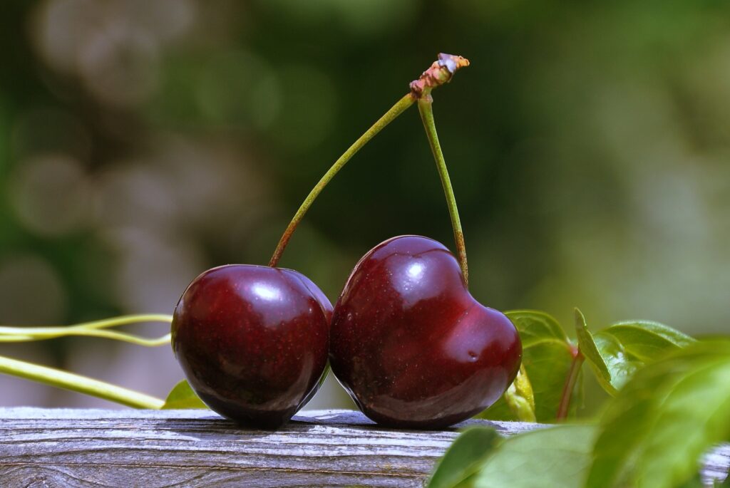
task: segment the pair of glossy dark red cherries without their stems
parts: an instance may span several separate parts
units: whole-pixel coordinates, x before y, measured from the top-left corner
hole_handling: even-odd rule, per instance
[[[522,352],[510,319],[469,293],[456,257],[420,236],[370,250],[334,308],[297,271],[205,271],[177,304],[172,345],[204,403],[265,428],[312,398],[328,362],[375,422],[446,427],[496,401]]]

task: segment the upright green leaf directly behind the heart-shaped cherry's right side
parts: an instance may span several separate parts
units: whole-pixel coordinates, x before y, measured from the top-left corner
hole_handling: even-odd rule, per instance
[[[557,320],[542,311],[517,310],[506,312],[520,333],[522,364],[532,385],[537,422],[554,422],[560,405],[565,380],[573,360],[572,349],[563,328]],[[571,401],[575,413],[579,402]],[[493,420],[518,420],[504,398],[500,398],[480,417]]]

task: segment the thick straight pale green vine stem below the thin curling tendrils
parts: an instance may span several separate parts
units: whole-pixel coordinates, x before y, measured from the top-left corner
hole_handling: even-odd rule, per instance
[[[34,382],[48,384],[52,387],[64,388],[73,392],[85,393],[104,400],[110,400],[134,408],[152,408],[159,410],[164,401],[144,393],[127,390],[114,384],[100,382],[96,379],[68,373],[55,368],[26,363],[0,356],[0,373],[30,379]]]

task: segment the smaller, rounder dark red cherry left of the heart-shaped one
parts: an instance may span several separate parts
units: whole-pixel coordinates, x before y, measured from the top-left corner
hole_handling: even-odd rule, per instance
[[[303,274],[220,266],[194,279],[177,303],[172,349],[212,410],[275,428],[318,390],[331,316],[331,303]]]

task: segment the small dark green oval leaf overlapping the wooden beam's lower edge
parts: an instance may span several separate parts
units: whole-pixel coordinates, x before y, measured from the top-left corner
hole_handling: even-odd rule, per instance
[[[477,470],[499,444],[501,437],[491,427],[472,427],[451,444],[436,466],[429,488],[456,487]]]

